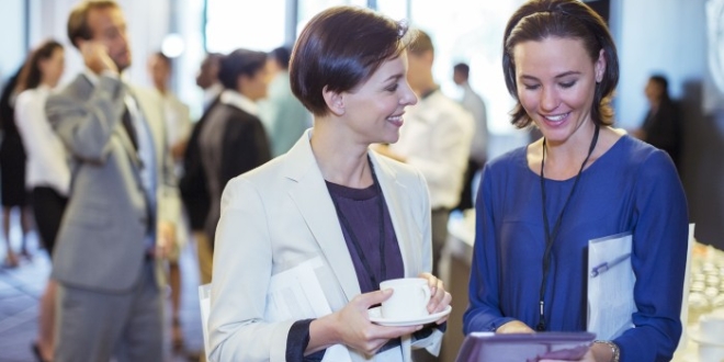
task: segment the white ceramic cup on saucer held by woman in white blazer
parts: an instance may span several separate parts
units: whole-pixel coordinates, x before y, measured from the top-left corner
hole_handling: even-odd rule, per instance
[[[382,302],[382,317],[385,319],[415,319],[429,316],[430,287],[422,278],[392,279],[380,283],[381,290],[393,290],[393,295]]]

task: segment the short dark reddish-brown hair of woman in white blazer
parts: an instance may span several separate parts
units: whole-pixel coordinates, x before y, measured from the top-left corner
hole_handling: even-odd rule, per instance
[[[292,52],[294,95],[315,115],[329,112],[323,92],[344,92],[367,80],[409,44],[404,22],[364,8],[332,7],[304,27]]]

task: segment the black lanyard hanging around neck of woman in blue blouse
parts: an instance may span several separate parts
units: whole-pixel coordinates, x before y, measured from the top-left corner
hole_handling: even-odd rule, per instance
[[[599,133],[599,126],[596,126],[596,131],[593,131],[593,139],[591,139],[591,146],[588,149],[588,155],[586,156],[586,159],[584,160],[584,163],[580,165],[580,170],[578,170],[578,174],[576,174],[576,180],[574,180],[574,185],[570,189],[570,193],[568,193],[568,199],[566,199],[566,202],[563,204],[563,208],[561,208],[561,214],[558,214],[558,219],[555,222],[555,226],[553,227],[553,233],[550,230],[548,226],[548,213],[545,210],[545,204],[546,204],[546,197],[545,197],[545,177],[543,174],[543,168],[545,166],[545,138],[543,138],[543,157],[541,157],[541,195],[543,196],[543,227],[545,228],[545,252],[543,253],[543,280],[541,281],[541,293],[540,293],[540,307],[541,307],[541,316],[538,321],[538,326],[535,326],[535,330],[543,331],[545,330],[545,314],[544,314],[544,308],[545,308],[545,286],[547,284],[548,280],[548,272],[551,271],[551,250],[553,249],[553,241],[555,241],[555,238],[558,236],[558,231],[561,230],[561,220],[563,219],[563,212],[566,210],[566,206],[568,206],[568,202],[570,201],[570,196],[573,196],[574,191],[576,191],[576,185],[578,185],[578,180],[580,180],[580,174],[584,172],[584,168],[586,167],[586,162],[588,162],[588,159],[591,157],[591,154],[593,152],[593,149],[596,148],[596,143],[598,142],[598,133]]]

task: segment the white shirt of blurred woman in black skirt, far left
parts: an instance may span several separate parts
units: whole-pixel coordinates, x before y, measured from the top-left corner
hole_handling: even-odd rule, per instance
[[[45,115],[45,101],[50,88],[41,84],[23,91],[15,99],[15,124],[25,147],[25,185],[49,186],[67,196],[70,168],[67,151]]]

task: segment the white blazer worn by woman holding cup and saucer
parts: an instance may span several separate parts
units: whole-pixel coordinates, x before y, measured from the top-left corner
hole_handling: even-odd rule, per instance
[[[307,129],[292,149],[228,182],[216,228],[208,331],[212,361],[285,361],[295,320],[264,320],[272,275],[320,258],[316,269],[331,310],[359,295],[354,265]],[[405,263],[405,276],[432,263],[430,199],[421,173],[369,152]],[[442,333],[416,341],[439,349]],[[409,346],[409,344],[407,344]],[[350,350],[352,361],[374,357]],[[399,353],[400,361],[403,351]]]

